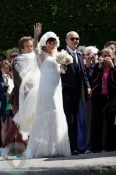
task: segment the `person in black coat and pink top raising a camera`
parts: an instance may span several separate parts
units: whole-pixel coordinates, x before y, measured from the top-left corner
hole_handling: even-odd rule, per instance
[[[114,137],[116,128],[113,125],[115,114],[105,110],[107,104],[116,97],[116,67],[113,60],[113,52],[110,48],[102,50],[99,62],[93,69],[91,85],[92,151],[101,152],[103,149],[106,151],[115,150],[116,141]]]

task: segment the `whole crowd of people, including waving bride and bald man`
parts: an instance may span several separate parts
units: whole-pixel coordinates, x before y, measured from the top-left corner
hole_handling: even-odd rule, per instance
[[[73,62],[65,65],[56,60],[59,37],[41,33],[36,23],[33,38],[0,55],[1,152],[15,142],[27,158],[115,151],[116,41],[79,46],[69,31],[64,50]]]

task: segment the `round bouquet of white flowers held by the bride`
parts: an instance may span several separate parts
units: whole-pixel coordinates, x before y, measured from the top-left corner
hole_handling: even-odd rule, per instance
[[[73,58],[66,50],[61,50],[61,52],[57,52],[56,54],[56,61],[61,65],[67,66],[68,64],[73,63]]]

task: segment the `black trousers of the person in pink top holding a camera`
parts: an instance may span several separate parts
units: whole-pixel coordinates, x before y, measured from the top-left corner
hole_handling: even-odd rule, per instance
[[[106,119],[104,107],[108,103],[106,95],[97,94],[92,97],[91,146],[92,151],[99,152],[105,147]],[[110,117],[110,116],[109,116]]]

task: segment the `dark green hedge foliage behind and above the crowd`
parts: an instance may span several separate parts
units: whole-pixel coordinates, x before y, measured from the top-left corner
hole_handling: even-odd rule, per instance
[[[4,0],[0,11],[0,48],[17,46],[24,35],[33,36],[33,25],[43,24],[43,31],[60,36],[61,46],[70,30],[79,33],[81,45],[102,48],[115,40],[116,3],[114,0]]]

